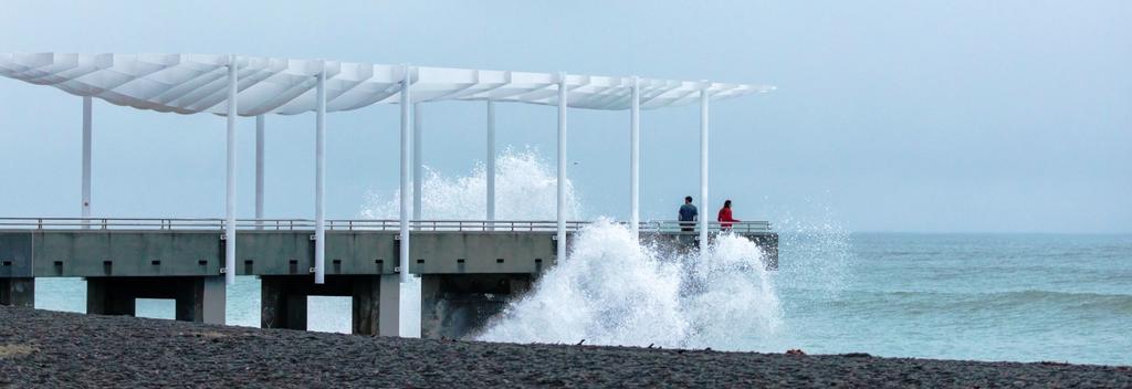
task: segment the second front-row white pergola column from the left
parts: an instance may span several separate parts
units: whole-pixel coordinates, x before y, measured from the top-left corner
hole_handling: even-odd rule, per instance
[[[318,72],[315,112],[315,284],[326,282],[326,64]]]

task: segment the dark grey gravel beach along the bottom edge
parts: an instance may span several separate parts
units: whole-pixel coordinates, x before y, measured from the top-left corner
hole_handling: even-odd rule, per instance
[[[1123,388],[1132,368],[398,339],[0,306],[0,387]]]

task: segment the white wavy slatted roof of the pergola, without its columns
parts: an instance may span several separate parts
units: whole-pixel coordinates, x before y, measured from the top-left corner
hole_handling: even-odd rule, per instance
[[[230,55],[0,53],[0,75],[50,85],[79,96],[161,112],[225,113]],[[316,76],[326,71],[326,111],[350,111],[397,103],[403,66],[235,57],[239,114],[298,114],[314,111]],[[413,102],[448,100],[558,104],[557,74],[409,67]],[[771,86],[645,79],[642,109],[773,90]],[[627,110],[632,77],[567,75],[568,106]]]

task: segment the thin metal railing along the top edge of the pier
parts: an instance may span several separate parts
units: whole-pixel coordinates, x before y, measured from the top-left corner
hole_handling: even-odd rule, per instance
[[[566,231],[574,232],[594,222],[568,221]],[[627,225],[626,222],[615,222]],[[203,230],[222,231],[223,218],[146,218],[146,217],[0,217],[0,230]],[[310,231],[315,221],[290,219],[237,219],[238,231]],[[555,221],[410,221],[409,227],[417,232],[555,232]],[[398,231],[400,221],[393,219],[328,219],[327,231]],[[724,226],[719,222],[707,224],[710,231],[734,231],[736,233],[765,233],[771,231],[770,222],[735,222]],[[649,221],[641,222],[643,233],[694,234],[696,222]]]

